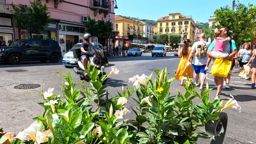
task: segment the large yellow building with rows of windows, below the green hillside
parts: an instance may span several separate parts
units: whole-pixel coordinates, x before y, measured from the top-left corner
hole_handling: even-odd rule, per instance
[[[169,16],[158,19],[158,33],[181,33],[187,32],[187,39],[195,39],[195,22],[191,16],[180,13],[171,13]]]

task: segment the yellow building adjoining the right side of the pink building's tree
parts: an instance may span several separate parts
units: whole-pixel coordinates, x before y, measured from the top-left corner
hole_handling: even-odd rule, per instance
[[[129,35],[133,35],[133,39],[137,40],[137,35],[143,37],[143,26],[144,24],[138,20],[132,20],[129,17],[120,15],[115,16],[114,31],[116,35],[116,45],[128,44],[130,45]]]

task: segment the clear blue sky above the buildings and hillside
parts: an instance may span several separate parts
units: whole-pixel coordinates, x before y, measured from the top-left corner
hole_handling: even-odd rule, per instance
[[[240,3],[255,5],[253,0],[240,0]],[[156,21],[170,13],[181,13],[185,16],[191,15],[195,22],[208,22],[216,9],[227,4],[231,7],[232,0],[117,0],[118,9],[115,9],[115,15]]]

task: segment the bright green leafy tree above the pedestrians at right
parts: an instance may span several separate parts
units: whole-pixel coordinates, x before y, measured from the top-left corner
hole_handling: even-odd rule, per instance
[[[253,4],[238,3],[234,10],[228,5],[221,7],[214,11],[216,16],[216,25],[219,27],[226,27],[230,30],[232,39],[236,41],[237,45],[253,39],[253,32],[256,29],[255,15],[256,7]]]

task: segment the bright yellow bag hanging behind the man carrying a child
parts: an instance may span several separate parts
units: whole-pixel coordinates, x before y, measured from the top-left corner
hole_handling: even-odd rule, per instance
[[[212,65],[212,75],[218,77],[227,77],[232,65],[232,61],[224,58],[216,58]]]

